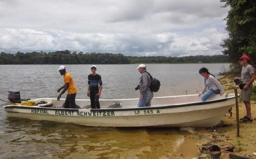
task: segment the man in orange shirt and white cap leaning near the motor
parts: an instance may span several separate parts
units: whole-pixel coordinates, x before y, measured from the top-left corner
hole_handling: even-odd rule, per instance
[[[61,93],[58,95],[57,100],[61,98],[61,95],[68,90],[67,97],[64,103],[64,108],[74,108],[74,109],[81,109],[80,106],[78,106],[75,102],[76,100],[76,95],[77,95],[77,88],[76,85],[73,81],[72,76],[66,72],[66,67],[65,66],[59,66],[59,73],[61,76],[63,75],[64,78],[64,85],[60,87],[57,92],[59,93],[61,89]]]

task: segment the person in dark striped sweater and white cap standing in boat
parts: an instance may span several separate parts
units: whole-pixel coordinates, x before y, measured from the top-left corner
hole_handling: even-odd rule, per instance
[[[87,96],[90,97],[92,109],[101,108],[98,100],[101,97],[102,81],[101,76],[96,74],[96,70],[96,66],[92,65],[92,74],[88,75]]]

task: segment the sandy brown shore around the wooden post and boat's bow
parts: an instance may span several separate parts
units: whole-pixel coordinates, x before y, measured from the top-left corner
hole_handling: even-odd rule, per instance
[[[234,76],[226,76],[220,79],[221,84],[225,89],[225,93],[234,93],[234,89],[228,90],[228,88],[236,87],[233,82]],[[256,82],[254,82],[254,85]],[[237,87],[238,93],[241,90]],[[246,114],[245,105],[238,100],[239,119],[243,118]],[[213,144],[218,145],[221,148],[220,159],[228,159],[231,152],[227,151],[228,148],[234,148],[235,154],[243,155],[244,157],[256,158],[253,153],[256,153],[256,101],[251,101],[251,111],[254,120],[252,123],[239,122],[239,137],[237,137],[237,124],[236,124],[236,106],[232,107],[232,116],[228,113],[223,118],[221,123],[216,127],[206,128],[205,130],[199,129],[199,133],[203,136],[209,136],[209,139],[200,140],[198,142],[203,143],[201,147],[208,147]],[[196,139],[197,140],[197,139]],[[240,142],[240,144],[239,144]],[[240,150],[238,149],[240,148]],[[203,155],[202,155],[203,157]]]

